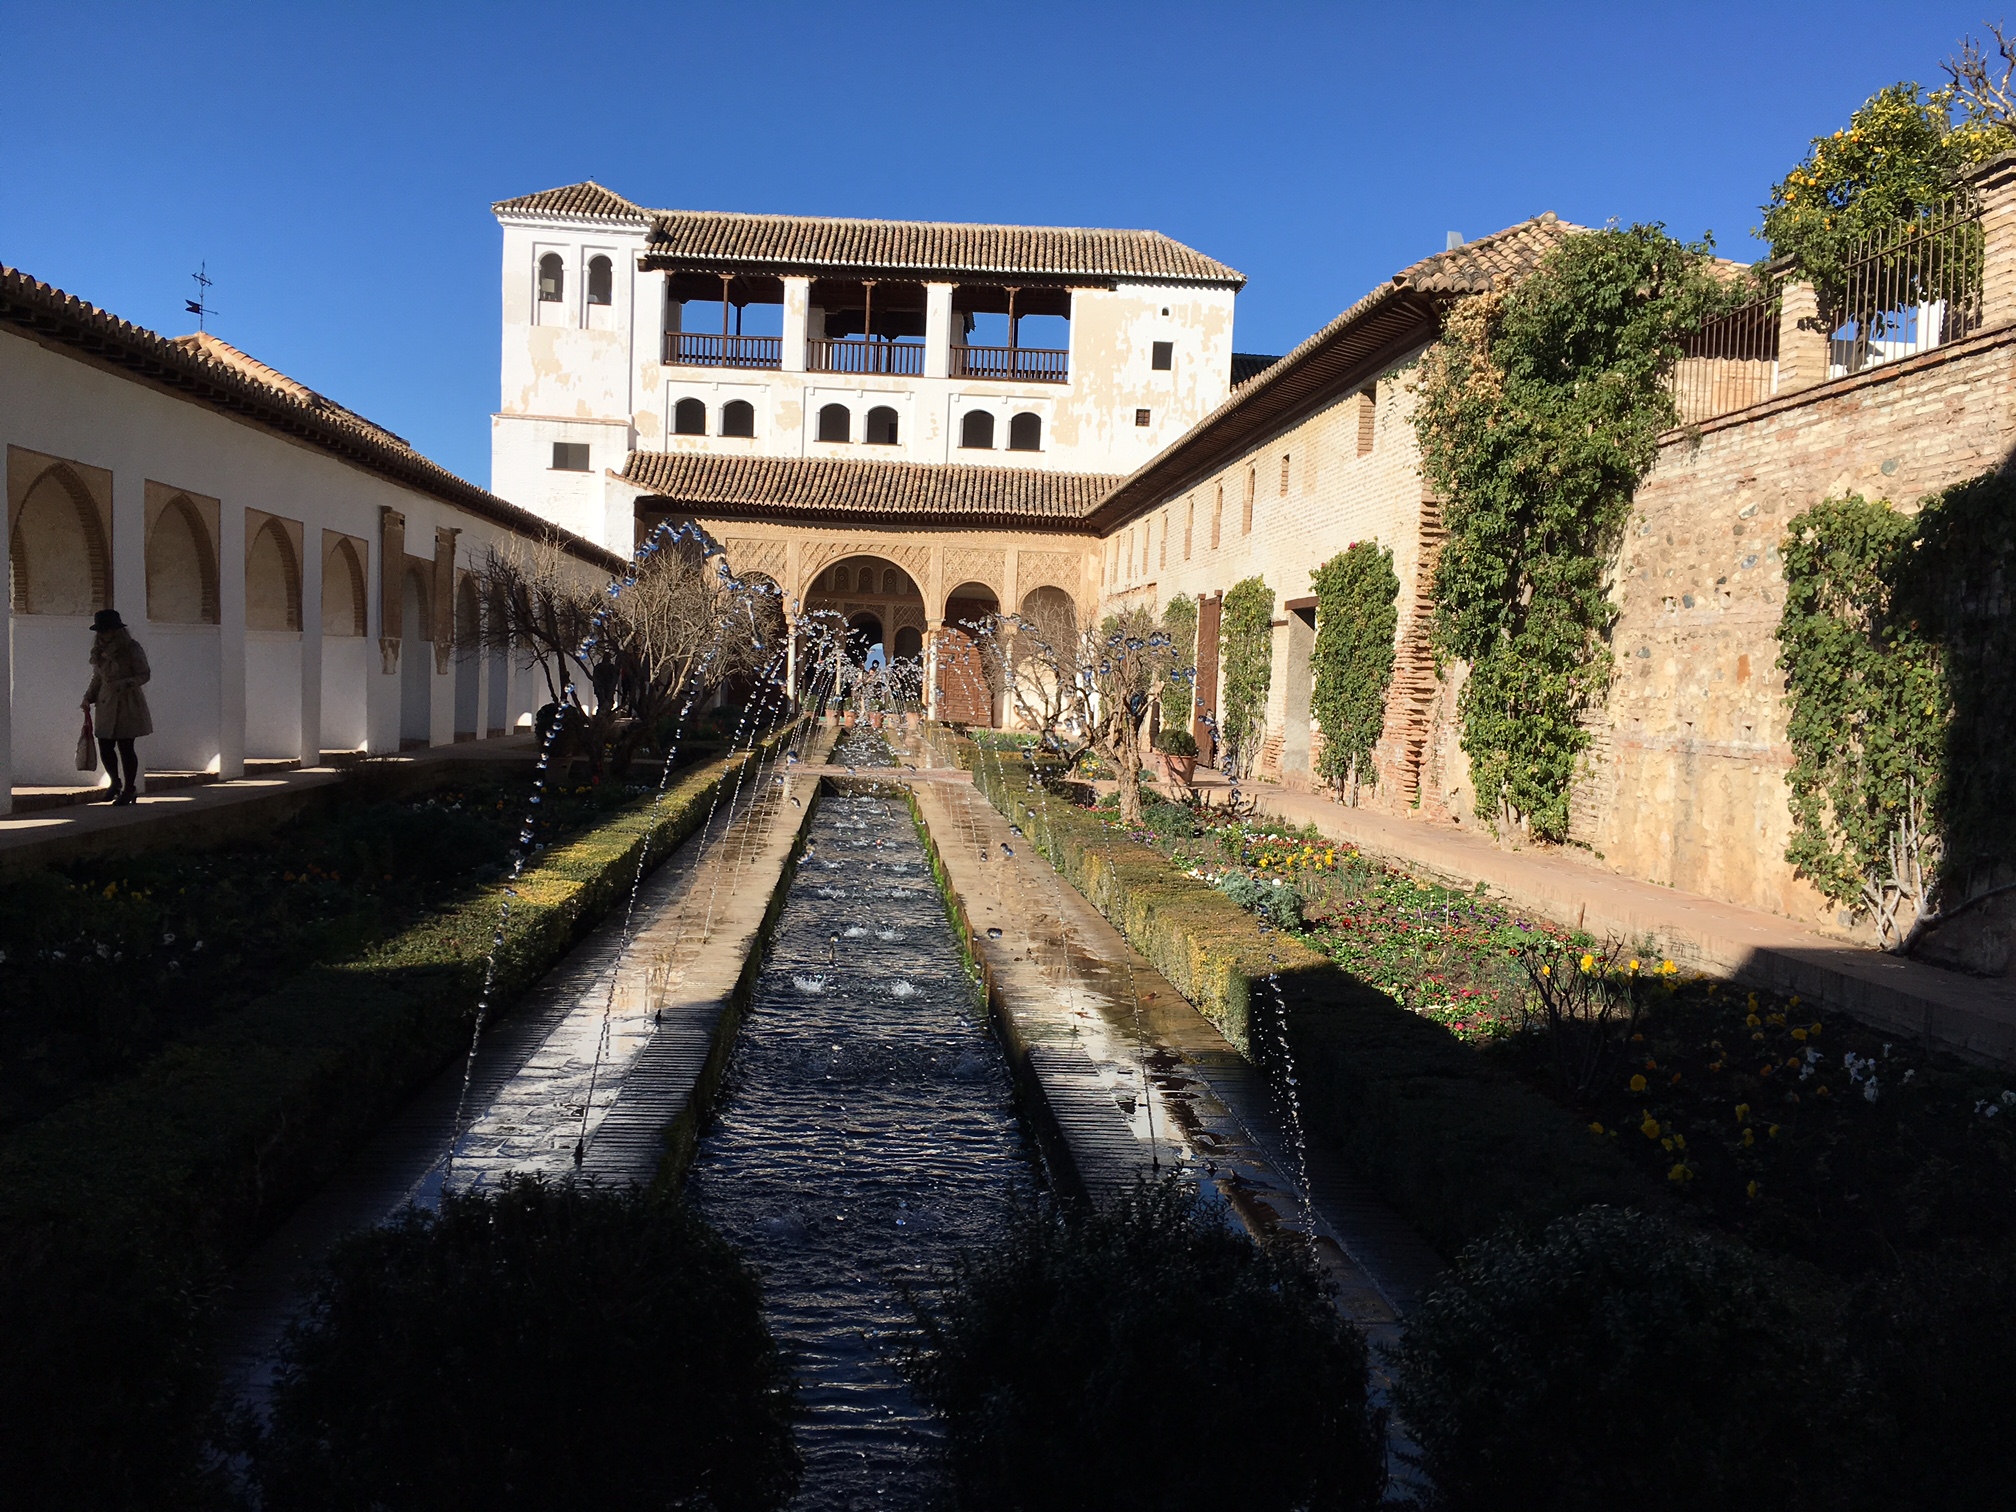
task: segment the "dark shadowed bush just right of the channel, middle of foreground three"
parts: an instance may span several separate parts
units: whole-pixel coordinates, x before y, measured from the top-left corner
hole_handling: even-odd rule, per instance
[[[1385,1486],[1365,1341],[1322,1276],[1181,1181],[1018,1216],[919,1316],[960,1508],[1329,1512]]]

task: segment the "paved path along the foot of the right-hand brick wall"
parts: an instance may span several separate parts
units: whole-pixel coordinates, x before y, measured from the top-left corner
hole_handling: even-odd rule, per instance
[[[1200,774],[1204,778],[1204,774]],[[1206,796],[1224,784],[1204,778]],[[1514,907],[1595,935],[1653,937],[1675,962],[1774,992],[1798,992],[1877,1028],[1976,1060],[2016,1062],[2016,984],[1845,943],[1790,919],[1603,871],[1566,851],[1506,851],[1447,825],[1242,784],[1254,804],[1409,871],[1462,887],[1486,883]]]

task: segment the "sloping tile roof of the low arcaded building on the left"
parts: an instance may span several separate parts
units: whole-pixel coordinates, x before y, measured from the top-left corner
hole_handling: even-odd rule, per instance
[[[123,377],[304,442],[522,536],[556,540],[571,556],[605,571],[623,571],[621,556],[458,478],[391,431],[222,341],[163,337],[8,266],[0,266],[0,329],[69,349],[85,361],[119,369]]]

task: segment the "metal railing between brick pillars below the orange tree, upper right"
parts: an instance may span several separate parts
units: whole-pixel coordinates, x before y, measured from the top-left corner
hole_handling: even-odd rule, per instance
[[[1831,280],[1833,282],[1833,280]],[[1826,375],[1917,357],[1982,329],[1982,210],[1972,194],[1867,238],[1820,308]]]

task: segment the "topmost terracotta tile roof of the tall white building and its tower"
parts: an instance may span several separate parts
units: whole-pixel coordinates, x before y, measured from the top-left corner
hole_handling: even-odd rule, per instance
[[[500,200],[492,210],[500,216],[649,220],[651,240],[645,256],[687,266],[1149,278],[1234,288],[1246,282],[1238,268],[1228,268],[1161,232],[643,210],[595,181]]]

